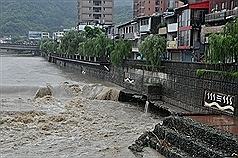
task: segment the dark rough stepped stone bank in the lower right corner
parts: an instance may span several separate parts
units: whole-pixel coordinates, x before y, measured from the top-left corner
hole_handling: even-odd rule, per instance
[[[166,157],[238,157],[238,136],[181,116],[165,117],[129,146],[135,154],[151,147]]]

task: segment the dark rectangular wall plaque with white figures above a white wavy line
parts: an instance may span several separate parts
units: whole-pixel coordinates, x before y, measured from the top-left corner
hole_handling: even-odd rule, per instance
[[[204,106],[234,114],[235,96],[205,90]]]

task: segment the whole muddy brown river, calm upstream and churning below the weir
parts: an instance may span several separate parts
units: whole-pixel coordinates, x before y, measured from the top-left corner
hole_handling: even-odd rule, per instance
[[[121,89],[41,57],[2,54],[0,157],[135,157],[128,146],[161,118],[118,102]]]

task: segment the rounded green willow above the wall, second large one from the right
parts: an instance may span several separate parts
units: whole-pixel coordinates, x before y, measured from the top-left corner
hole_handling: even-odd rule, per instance
[[[140,53],[145,57],[147,64],[153,68],[161,65],[161,56],[166,52],[166,40],[159,35],[150,35],[139,46]]]

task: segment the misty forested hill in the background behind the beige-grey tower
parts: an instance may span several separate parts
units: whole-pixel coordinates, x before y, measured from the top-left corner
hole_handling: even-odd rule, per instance
[[[132,19],[133,0],[115,0],[114,22]],[[122,7],[123,6],[123,7]],[[77,25],[77,0],[0,0],[0,37],[53,32]]]

